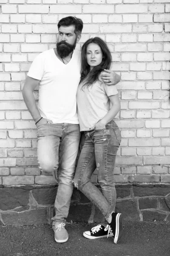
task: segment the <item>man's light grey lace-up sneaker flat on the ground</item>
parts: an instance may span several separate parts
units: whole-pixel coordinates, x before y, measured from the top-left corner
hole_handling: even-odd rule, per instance
[[[68,233],[65,230],[65,223],[57,222],[53,225],[54,239],[57,243],[64,243],[68,240]]]

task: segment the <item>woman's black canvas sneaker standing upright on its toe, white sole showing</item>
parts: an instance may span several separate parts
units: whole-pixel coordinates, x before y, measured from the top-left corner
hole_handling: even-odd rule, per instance
[[[117,244],[122,236],[123,231],[123,218],[122,213],[112,213],[112,221],[108,223],[111,227],[111,231],[113,232],[113,241]]]

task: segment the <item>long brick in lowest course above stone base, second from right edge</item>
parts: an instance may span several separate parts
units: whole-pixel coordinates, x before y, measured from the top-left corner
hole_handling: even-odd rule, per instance
[[[159,182],[159,175],[130,175],[130,183],[157,183]]]

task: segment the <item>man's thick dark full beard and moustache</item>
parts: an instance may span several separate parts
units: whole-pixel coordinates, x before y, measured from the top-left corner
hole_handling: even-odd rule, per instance
[[[58,53],[58,55],[61,58],[67,57],[75,49],[76,41],[77,41],[77,38],[76,38],[74,44],[68,44],[65,41],[57,42],[57,53]]]

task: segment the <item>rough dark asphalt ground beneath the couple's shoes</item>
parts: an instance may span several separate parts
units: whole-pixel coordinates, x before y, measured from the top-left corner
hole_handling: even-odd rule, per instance
[[[125,221],[122,240],[82,236],[96,224],[70,223],[66,243],[54,241],[50,225],[0,226],[0,256],[170,256],[170,222]]]

